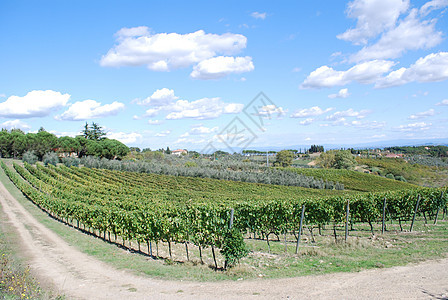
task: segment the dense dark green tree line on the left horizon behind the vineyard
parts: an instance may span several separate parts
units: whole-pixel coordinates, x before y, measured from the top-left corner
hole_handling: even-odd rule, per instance
[[[22,158],[26,152],[32,152],[39,160],[46,153],[57,152],[69,156],[97,156],[107,159],[122,159],[129,153],[123,143],[108,139],[102,127],[96,123],[86,123],[81,135],[76,137],[56,135],[40,128],[37,133],[24,133],[20,129],[2,129],[0,131],[0,157]]]

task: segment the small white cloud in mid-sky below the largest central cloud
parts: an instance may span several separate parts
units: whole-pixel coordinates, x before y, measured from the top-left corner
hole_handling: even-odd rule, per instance
[[[171,112],[166,116],[168,120],[192,118],[197,120],[214,119],[222,114],[235,114],[243,110],[239,103],[224,103],[219,97],[203,98],[189,102],[178,100],[167,107]]]

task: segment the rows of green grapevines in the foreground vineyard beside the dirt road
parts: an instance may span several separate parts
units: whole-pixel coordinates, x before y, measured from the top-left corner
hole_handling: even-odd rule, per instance
[[[31,201],[77,228],[108,240],[118,238],[123,245],[136,241],[139,249],[141,244],[147,246],[151,256],[156,255],[153,244],[160,242],[168,245],[170,256],[173,243],[184,244],[187,253],[189,245],[200,253],[211,248],[213,256],[220,249],[230,265],[245,255],[247,236],[268,243],[271,234],[298,240],[301,223],[320,230],[362,222],[373,232],[373,225],[383,220],[401,226],[415,214],[437,219],[446,213],[448,203],[443,189],[412,185],[355,193],[85,167],[14,163],[10,168],[3,161],[1,166]]]

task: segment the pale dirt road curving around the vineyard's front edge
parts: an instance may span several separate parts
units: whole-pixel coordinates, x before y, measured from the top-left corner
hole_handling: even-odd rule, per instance
[[[448,299],[448,259],[277,280],[196,283],[139,277],[69,246],[1,183],[0,206],[30,257],[30,267],[67,299]]]

